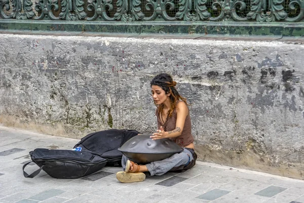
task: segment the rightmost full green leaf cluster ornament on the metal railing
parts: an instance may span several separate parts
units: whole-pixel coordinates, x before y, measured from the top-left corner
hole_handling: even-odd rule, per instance
[[[268,8],[267,1],[269,1]],[[250,2],[251,11],[247,14],[248,19],[255,19],[258,22],[274,22],[284,20],[288,16],[284,11],[284,0],[251,0]]]

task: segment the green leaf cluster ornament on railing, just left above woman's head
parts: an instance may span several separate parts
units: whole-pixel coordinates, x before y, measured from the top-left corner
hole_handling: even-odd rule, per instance
[[[118,0],[116,4],[117,13],[114,14],[114,18],[121,21],[138,21],[143,19],[144,14],[141,12],[140,4],[140,0]]]

